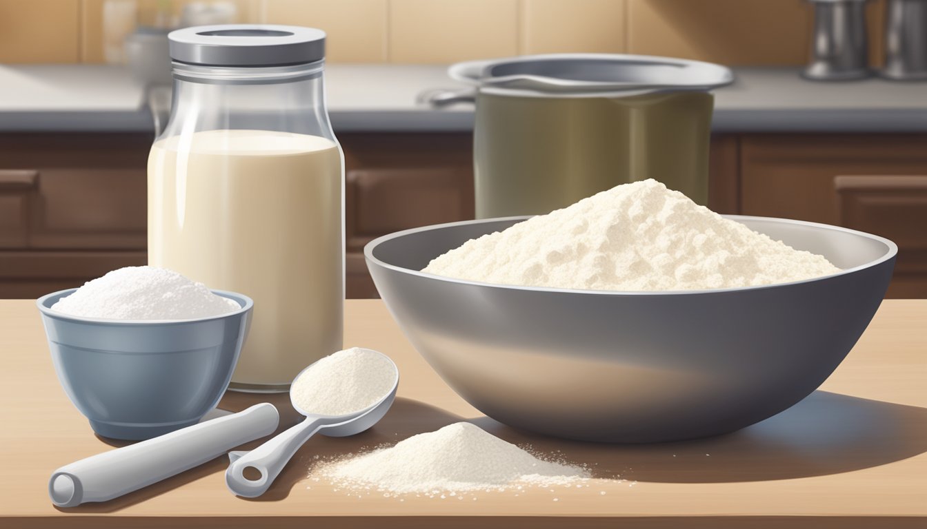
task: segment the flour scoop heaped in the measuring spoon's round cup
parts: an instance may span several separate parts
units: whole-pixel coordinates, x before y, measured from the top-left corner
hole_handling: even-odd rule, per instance
[[[347,415],[386,397],[398,375],[396,365],[386,356],[351,347],[302,372],[290,387],[290,396],[309,413]]]

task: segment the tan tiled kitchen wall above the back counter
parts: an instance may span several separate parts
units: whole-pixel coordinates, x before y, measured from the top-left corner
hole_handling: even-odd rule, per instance
[[[812,15],[803,0],[235,3],[243,20],[323,28],[329,33],[330,61],[360,63],[603,52],[689,57],[731,66],[802,65]],[[0,0],[0,63],[103,62],[103,5],[104,0]],[[869,9],[870,51],[878,66],[883,0],[871,2]]]

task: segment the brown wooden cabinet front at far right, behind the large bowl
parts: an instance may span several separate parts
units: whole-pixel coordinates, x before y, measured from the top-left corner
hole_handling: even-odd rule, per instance
[[[899,251],[888,296],[927,297],[927,134],[756,134],[743,137],[741,160],[744,215],[892,239]]]

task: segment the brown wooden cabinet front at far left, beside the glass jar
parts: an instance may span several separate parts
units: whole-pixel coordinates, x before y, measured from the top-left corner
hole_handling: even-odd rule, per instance
[[[146,263],[150,134],[0,134],[0,297]]]

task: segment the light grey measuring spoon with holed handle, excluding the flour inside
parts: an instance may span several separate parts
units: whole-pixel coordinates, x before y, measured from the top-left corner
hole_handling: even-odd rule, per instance
[[[320,415],[312,413],[311,410],[301,409],[296,399],[290,394],[290,402],[292,402],[293,408],[306,416],[305,421],[299,422],[296,426],[290,427],[285,432],[251,451],[229,452],[231,464],[228,470],[225,471],[225,485],[228,485],[229,490],[237,496],[257,498],[267,492],[267,489],[273,484],[273,480],[277,478],[277,475],[293,457],[293,454],[316,432],[331,437],[357,435],[373,426],[386,415],[387,410],[396,398],[396,388],[400,384],[399,368],[396,367],[392,359],[389,359],[383,353],[373,349],[363,350],[382,355],[392,364],[393,372],[396,374],[392,389],[372,406],[347,415]],[[293,384],[296,384],[299,377],[304,372],[311,370],[314,365],[313,362],[309,367],[299,372],[296,378],[293,379]],[[250,475],[246,477],[245,472]],[[253,479],[249,479],[252,477]]]

